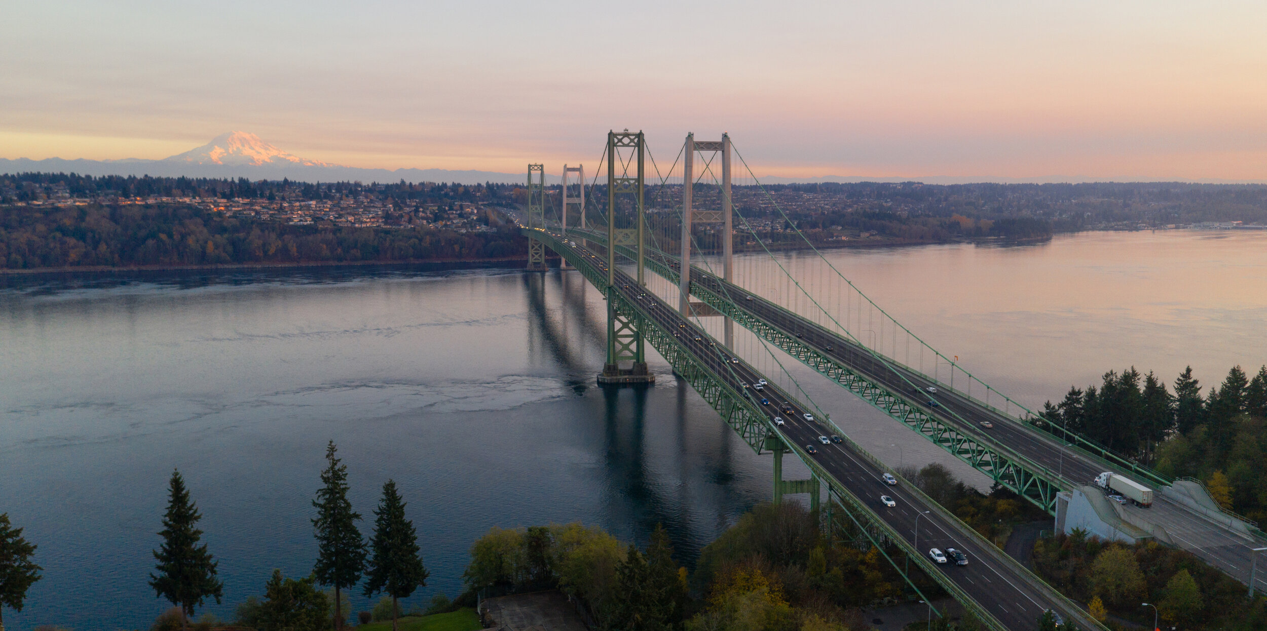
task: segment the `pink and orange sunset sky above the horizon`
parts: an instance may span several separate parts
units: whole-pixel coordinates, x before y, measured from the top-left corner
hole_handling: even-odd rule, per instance
[[[241,129],[361,167],[672,161],[765,175],[1267,180],[1267,3],[16,1],[0,157]],[[551,167],[551,171],[554,169]]]

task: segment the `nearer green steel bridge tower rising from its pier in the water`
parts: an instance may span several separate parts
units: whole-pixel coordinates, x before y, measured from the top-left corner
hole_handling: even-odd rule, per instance
[[[618,150],[634,153],[630,160],[621,160]],[[642,132],[607,132],[607,362],[598,375],[599,384],[653,384],[655,375],[646,369],[646,348],[642,340],[641,318],[625,317],[616,312],[616,247],[635,247],[637,251],[637,284],[646,286],[642,279],[645,271],[644,250],[646,245],[645,201],[645,156],[646,138]],[[636,174],[630,177],[632,158],[637,158]],[[623,172],[617,176],[616,165],[623,165]],[[617,228],[616,196],[632,195],[634,227]],[[630,214],[630,213],[622,213]],[[627,220],[623,223],[628,223]]]

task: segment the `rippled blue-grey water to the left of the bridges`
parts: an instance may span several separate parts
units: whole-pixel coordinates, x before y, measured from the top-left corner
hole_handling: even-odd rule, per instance
[[[455,596],[492,526],[669,528],[683,560],[768,497],[754,455],[653,366],[594,385],[604,324],[579,276],[518,270],[274,270],[10,279],[0,290],[0,512],[44,579],[9,630],[148,627],[166,483],[185,475],[224,602],[312,568],[327,440],[372,522],[394,479],[428,587]],[[369,601],[353,598],[357,609]]]

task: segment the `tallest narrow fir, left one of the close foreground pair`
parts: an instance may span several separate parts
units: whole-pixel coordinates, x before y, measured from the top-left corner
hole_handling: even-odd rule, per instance
[[[317,517],[313,533],[317,537],[317,563],[313,577],[322,585],[334,588],[334,628],[342,628],[347,612],[342,611],[341,590],[361,579],[365,571],[365,540],[356,522],[361,513],[352,511],[347,499],[347,465],[334,456],[334,441],[326,446],[326,469],[321,473],[322,488],[317,489]]]

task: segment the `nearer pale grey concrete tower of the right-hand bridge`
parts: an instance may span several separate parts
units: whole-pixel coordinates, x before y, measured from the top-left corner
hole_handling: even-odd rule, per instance
[[[694,158],[696,152],[721,153],[721,210],[696,210],[694,201]],[[691,227],[696,223],[722,224],[722,277],[730,283],[732,277],[732,260],[735,255],[734,237],[734,204],[730,196],[730,134],[721,134],[720,141],[696,141],[696,134],[687,134],[687,146],[683,150],[684,161],[682,166],[682,277],[679,283],[679,309],[683,316],[691,317]],[[711,309],[710,309],[711,312]],[[725,343],[729,348],[735,348],[735,322],[726,318]]]

